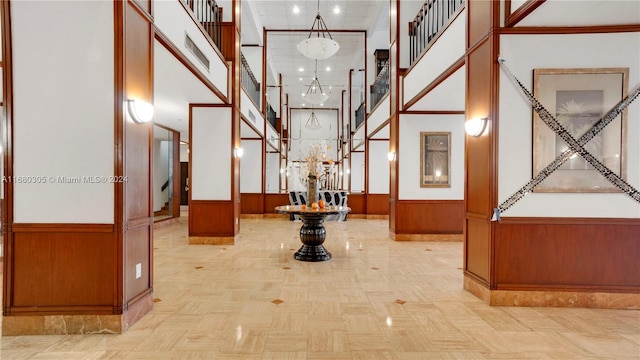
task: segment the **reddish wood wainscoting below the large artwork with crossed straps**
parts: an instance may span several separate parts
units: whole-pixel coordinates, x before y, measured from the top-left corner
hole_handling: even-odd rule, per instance
[[[492,289],[640,293],[640,219],[502,218]]]

